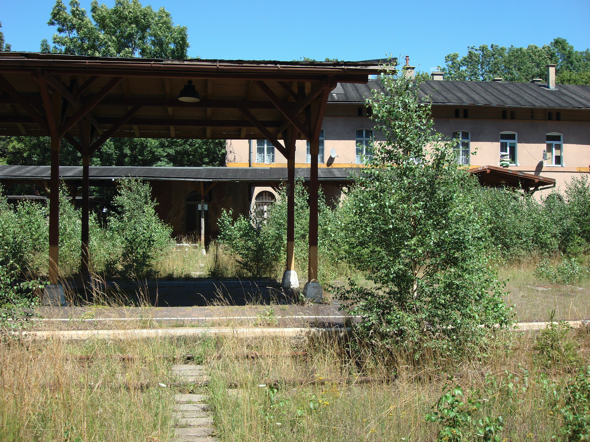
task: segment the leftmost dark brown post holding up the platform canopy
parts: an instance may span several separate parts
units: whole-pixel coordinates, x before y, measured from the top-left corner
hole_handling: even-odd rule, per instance
[[[61,138],[51,137],[51,181],[49,194],[49,282],[57,284],[60,254],[60,146]]]

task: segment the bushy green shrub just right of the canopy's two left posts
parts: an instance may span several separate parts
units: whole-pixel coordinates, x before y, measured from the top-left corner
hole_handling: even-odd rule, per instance
[[[118,253],[107,267],[125,277],[147,277],[156,260],[171,248],[171,227],[154,207],[150,185],[140,179],[122,179],[114,198],[119,212],[109,220],[111,247]]]

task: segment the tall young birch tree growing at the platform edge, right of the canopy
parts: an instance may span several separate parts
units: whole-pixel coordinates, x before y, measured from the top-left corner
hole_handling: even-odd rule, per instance
[[[385,351],[460,352],[509,315],[487,266],[486,217],[452,142],[432,130],[430,106],[403,76],[382,76],[368,100],[383,140],[342,206],[344,251],[375,283],[337,292],[359,331]],[[481,327],[483,326],[483,328]]]

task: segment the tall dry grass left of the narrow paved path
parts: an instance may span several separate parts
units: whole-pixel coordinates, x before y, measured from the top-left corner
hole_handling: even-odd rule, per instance
[[[0,345],[0,440],[168,441],[175,357],[200,354],[184,339]],[[163,357],[164,356],[164,357]]]

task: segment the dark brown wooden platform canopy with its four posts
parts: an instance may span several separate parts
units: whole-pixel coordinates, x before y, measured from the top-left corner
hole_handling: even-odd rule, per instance
[[[326,103],[338,83],[367,83],[379,73],[379,61],[150,60],[0,52],[0,135],[51,137],[51,283],[58,279],[61,139],[82,155],[81,269],[87,271],[90,155],[110,137],[267,139],[287,158],[291,183],[295,141],[309,141],[308,280],[316,279],[317,154]],[[192,102],[179,100],[182,90],[191,95],[192,86],[198,100],[196,94]],[[291,271],[293,187],[287,195]]]

